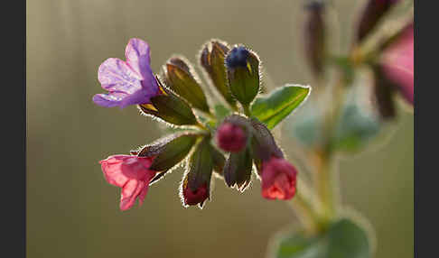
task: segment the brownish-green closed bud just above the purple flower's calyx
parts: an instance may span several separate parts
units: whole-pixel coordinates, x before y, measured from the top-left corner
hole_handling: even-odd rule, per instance
[[[166,86],[186,99],[191,106],[210,113],[206,96],[201,89],[198,76],[189,61],[181,57],[169,59],[163,67]]]

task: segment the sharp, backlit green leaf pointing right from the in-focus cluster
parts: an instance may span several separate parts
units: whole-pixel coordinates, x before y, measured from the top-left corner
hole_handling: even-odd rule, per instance
[[[251,114],[273,129],[303,103],[310,92],[311,88],[307,86],[285,85],[266,97],[257,97],[251,106]]]

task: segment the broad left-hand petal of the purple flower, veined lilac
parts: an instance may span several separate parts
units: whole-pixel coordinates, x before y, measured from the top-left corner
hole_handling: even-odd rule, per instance
[[[142,88],[142,79],[139,73],[119,59],[107,59],[98,69],[98,80],[108,91],[132,94]]]

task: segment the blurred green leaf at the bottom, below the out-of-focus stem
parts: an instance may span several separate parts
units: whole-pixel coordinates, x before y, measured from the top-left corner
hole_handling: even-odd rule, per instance
[[[322,235],[304,232],[287,235],[278,242],[276,258],[369,258],[366,231],[349,218],[341,218]]]

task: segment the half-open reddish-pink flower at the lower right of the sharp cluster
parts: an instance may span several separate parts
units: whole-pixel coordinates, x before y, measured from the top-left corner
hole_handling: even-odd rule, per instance
[[[262,196],[268,199],[290,199],[295,194],[297,170],[288,161],[272,156],[262,162]]]

